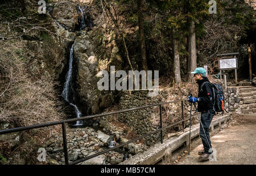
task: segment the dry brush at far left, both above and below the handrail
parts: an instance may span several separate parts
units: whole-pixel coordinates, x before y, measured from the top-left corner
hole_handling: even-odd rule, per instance
[[[63,119],[56,83],[47,71],[42,72],[26,41],[1,41],[0,56],[0,124],[9,123],[11,128]],[[0,141],[0,153],[6,158],[18,154],[22,158],[19,161],[36,164],[38,147],[60,131],[60,125],[56,125],[19,132],[18,144],[12,143],[11,136]]]

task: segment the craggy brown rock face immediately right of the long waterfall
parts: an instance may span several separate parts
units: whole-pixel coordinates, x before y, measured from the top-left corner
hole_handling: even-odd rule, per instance
[[[91,31],[82,31],[74,43],[74,56],[78,61],[77,83],[81,103],[87,107],[87,114],[100,113],[100,108],[109,107],[112,104],[110,94],[99,91],[97,77],[100,70],[108,70],[109,64],[122,65],[119,49],[115,41],[110,40],[108,44],[110,52],[106,52],[105,40],[100,27],[94,27]],[[113,37],[112,37],[113,38]]]

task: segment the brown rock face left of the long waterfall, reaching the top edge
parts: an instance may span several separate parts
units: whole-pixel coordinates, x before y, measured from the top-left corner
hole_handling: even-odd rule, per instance
[[[28,40],[27,45],[35,52],[35,62],[40,65],[40,68],[34,68],[35,73],[37,70],[47,71],[50,75],[55,74],[60,77],[65,65],[68,64],[69,49],[76,39],[74,30],[77,23],[77,11],[75,3],[69,1],[49,5],[51,7],[47,8],[49,11],[46,15],[56,35],[41,32],[40,41]]]

